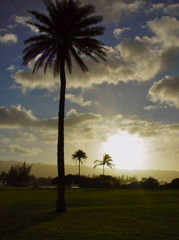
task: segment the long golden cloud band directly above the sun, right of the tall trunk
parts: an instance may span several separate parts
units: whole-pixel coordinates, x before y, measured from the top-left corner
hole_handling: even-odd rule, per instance
[[[70,111],[70,124],[65,126],[68,141],[78,139],[78,141],[82,142],[87,140],[106,141],[109,136],[121,131],[128,132],[131,135],[136,134],[142,138],[175,136],[179,132],[179,124],[170,125],[144,121],[136,116],[124,116],[121,114],[112,118],[104,118],[99,114],[78,114],[75,110]]]

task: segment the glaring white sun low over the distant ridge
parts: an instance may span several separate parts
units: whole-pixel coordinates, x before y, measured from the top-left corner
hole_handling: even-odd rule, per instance
[[[144,169],[145,143],[138,136],[127,132],[112,135],[104,143],[104,151],[108,153],[120,169]]]

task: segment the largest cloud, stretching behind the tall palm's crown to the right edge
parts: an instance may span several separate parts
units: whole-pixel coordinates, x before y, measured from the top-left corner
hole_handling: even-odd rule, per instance
[[[124,39],[114,47],[106,47],[106,62],[96,64],[85,58],[84,61],[89,67],[87,73],[82,73],[73,63],[72,74],[67,73],[67,88],[91,88],[102,83],[117,85],[119,81],[143,82],[154,78],[161,71],[176,70],[179,56],[179,21],[165,16],[148,21],[146,27],[151,31],[150,36]],[[119,29],[116,34],[117,32],[120,32]],[[32,74],[34,61],[29,63],[28,69],[12,74],[13,87],[20,87],[23,93],[37,88],[56,90],[59,77],[53,77],[52,69],[45,75],[43,69]],[[72,100],[72,96],[67,97]],[[73,98],[73,101],[77,103],[79,100]]]

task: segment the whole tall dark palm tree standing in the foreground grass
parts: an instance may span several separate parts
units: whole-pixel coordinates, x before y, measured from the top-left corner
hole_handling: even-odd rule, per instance
[[[65,163],[64,163],[64,117],[66,72],[72,72],[72,58],[82,71],[88,71],[84,56],[99,62],[105,60],[105,47],[94,37],[103,35],[104,28],[96,25],[103,20],[94,15],[95,7],[82,5],[79,0],[43,0],[48,15],[29,11],[38,22],[27,22],[38,29],[38,34],[25,40],[28,44],[23,51],[23,64],[35,59],[33,73],[39,68],[53,68],[54,76],[60,75],[60,100],[58,111],[58,194],[57,212],[66,212],[65,204]]]

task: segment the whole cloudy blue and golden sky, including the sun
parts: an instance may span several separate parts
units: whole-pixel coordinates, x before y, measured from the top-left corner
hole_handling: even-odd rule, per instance
[[[116,168],[179,171],[179,1],[82,3],[104,17],[107,61],[67,73],[65,163],[82,149],[86,166],[108,153]],[[28,9],[47,13],[42,0],[0,0],[0,160],[56,164],[60,78],[22,65],[38,34]]]

